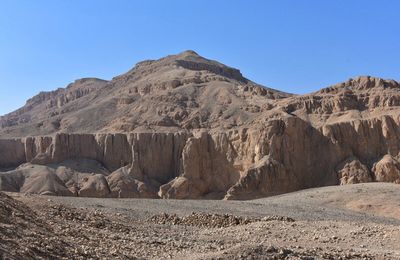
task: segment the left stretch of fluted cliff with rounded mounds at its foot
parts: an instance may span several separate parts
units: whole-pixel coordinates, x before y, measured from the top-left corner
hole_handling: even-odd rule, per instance
[[[4,155],[9,153],[19,155],[19,160],[0,164],[0,167],[16,167],[23,163],[28,163],[25,164],[28,165],[28,169],[44,167],[45,171],[42,168],[38,170],[43,172],[44,180],[36,184],[44,185],[45,180],[53,185],[62,183],[65,190],[66,187],[69,188],[69,195],[156,197],[161,184],[180,174],[181,154],[187,135],[187,133],[56,134],[53,137],[0,140],[0,147],[4,143],[9,148],[4,151]],[[2,156],[3,154],[0,154],[0,157]],[[74,169],[70,163],[64,165],[68,160],[82,159],[91,160],[92,165],[98,165],[89,170]],[[103,166],[104,170],[101,170]],[[43,193],[41,189],[35,191],[25,188],[26,178],[35,178],[32,176],[36,171],[32,171],[34,174],[28,174],[26,167],[21,167],[0,174],[2,189]],[[109,175],[108,181],[107,175]],[[55,188],[49,188],[48,192],[65,195],[64,190]]]

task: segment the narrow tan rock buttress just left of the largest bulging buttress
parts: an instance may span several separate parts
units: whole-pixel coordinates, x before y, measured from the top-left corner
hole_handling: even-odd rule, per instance
[[[182,174],[161,186],[162,198],[223,198],[239,180],[234,148],[226,134],[202,132],[190,137],[182,152]]]

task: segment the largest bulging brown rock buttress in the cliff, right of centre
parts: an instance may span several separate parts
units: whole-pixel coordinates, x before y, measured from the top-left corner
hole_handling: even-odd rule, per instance
[[[227,199],[250,199],[337,184],[340,147],[297,117],[268,121],[247,135],[253,164],[228,191]]]

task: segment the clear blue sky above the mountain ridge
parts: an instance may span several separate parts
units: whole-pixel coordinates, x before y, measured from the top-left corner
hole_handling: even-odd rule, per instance
[[[400,80],[400,1],[0,0],[0,115],[187,49],[292,93]]]

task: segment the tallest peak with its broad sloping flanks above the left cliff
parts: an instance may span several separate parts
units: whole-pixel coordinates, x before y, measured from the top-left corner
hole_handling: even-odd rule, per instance
[[[186,51],[143,61],[111,81],[80,79],[0,118],[2,136],[230,129],[289,96]],[[224,124],[221,124],[221,120]]]

